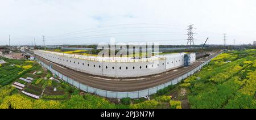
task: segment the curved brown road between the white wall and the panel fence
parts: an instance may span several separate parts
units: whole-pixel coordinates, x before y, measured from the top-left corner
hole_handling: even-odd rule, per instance
[[[204,61],[207,61],[210,58],[212,58],[214,55],[208,58],[199,59],[187,68],[180,67],[176,70],[163,72],[162,74],[139,77],[135,79],[101,78],[102,76],[89,75],[84,72],[71,70],[67,67],[57,65],[56,63],[49,62],[46,59],[39,57],[38,55],[36,55],[36,58],[40,59],[40,61],[46,63],[47,65],[52,65],[52,68],[60,72],[61,74],[68,76],[69,78],[74,79],[82,84],[89,85],[90,87],[114,92],[132,92],[141,91],[144,89],[156,87],[158,85],[170,82],[171,80],[174,80],[179,76],[184,75],[185,73],[193,70],[197,66],[204,63]]]

